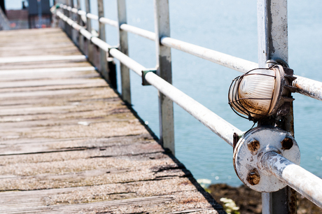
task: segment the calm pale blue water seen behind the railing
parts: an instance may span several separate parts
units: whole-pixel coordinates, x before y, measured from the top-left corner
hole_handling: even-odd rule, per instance
[[[92,0],[91,0],[92,1]],[[116,1],[104,1],[106,17],[116,20]],[[82,2],[84,8],[85,3]],[[256,1],[169,0],[171,36],[253,62],[258,61]],[[289,64],[295,74],[322,81],[322,1],[288,1]],[[92,1],[97,13],[97,1]],[[154,31],[153,1],[127,0],[127,22]],[[93,22],[97,27],[97,23]],[[118,44],[118,32],[106,26],[106,38]],[[155,43],[129,34],[130,57],[147,68],[155,66]],[[228,88],[237,71],[172,50],[173,85],[241,130],[252,122],[232,112]],[[118,71],[119,77],[119,71]],[[118,78],[119,80],[119,78]],[[120,81],[118,85],[120,90]],[[159,135],[158,93],[142,87],[131,73],[133,107]],[[322,102],[294,94],[295,138],[300,145],[301,166],[322,177]],[[232,148],[194,117],[174,104],[176,157],[195,178],[212,183],[240,185],[232,166]]]

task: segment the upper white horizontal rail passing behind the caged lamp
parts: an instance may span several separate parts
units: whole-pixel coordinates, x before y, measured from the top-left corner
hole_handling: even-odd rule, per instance
[[[77,10],[76,8],[68,9],[67,6],[62,6],[62,8],[71,10],[73,13],[76,13],[76,10]],[[83,10],[78,10],[77,13],[80,15],[86,14],[85,11]],[[87,17],[92,20],[98,20],[97,15],[93,15],[91,13],[87,13]],[[105,17],[101,17],[99,19],[99,22],[102,22],[104,24],[109,24],[113,27],[118,27],[117,21],[110,20]],[[121,24],[120,29],[144,38],[148,38],[151,41],[155,41],[155,33],[151,31],[147,31],[139,27],[134,27],[130,24]],[[234,69],[235,71],[239,71],[241,73],[246,73],[248,71],[251,71],[252,69],[258,68],[258,63],[251,62],[246,59],[241,59],[239,57],[233,57],[223,52],[218,52],[216,50],[204,48],[199,45],[193,45],[191,43],[179,41],[175,38],[162,37],[160,39],[160,43],[169,48],[174,48],[176,50],[187,52],[190,55],[195,55],[196,57],[206,59],[210,62],[220,64],[222,66],[228,67],[230,69]],[[295,75],[295,77],[297,77],[297,80],[293,82],[293,87],[296,87],[297,93],[322,101],[322,83],[321,82],[316,80],[311,80],[309,78],[304,78],[302,76],[297,76],[297,75]]]

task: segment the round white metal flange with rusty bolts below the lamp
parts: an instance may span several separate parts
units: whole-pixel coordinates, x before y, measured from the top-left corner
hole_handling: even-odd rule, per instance
[[[276,192],[286,187],[285,183],[262,167],[262,156],[272,151],[300,164],[300,148],[295,139],[277,127],[251,129],[239,139],[234,149],[233,163],[237,176],[257,192]]]

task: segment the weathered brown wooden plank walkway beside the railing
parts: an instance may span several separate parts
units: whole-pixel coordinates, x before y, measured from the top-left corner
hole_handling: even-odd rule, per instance
[[[61,29],[0,31],[0,140],[0,213],[224,213]]]

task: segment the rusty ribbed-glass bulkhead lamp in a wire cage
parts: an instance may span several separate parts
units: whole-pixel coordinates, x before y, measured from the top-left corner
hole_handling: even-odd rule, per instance
[[[271,115],[286,115],[294,99],[293,70],[279,64],[253,69],[238,76],[230,85],[228,99],[232,110],[249,120],[258,121]]]

